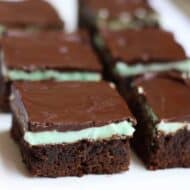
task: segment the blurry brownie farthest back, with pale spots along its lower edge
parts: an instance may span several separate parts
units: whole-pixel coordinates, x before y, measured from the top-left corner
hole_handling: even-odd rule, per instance
[[[158,16],[146,0],[81,0],[81,24],[92,29],[158,27]]]

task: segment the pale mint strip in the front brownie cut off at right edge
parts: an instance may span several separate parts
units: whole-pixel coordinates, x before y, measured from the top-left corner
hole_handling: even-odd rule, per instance
[[[189,123],[183,122],[160,122],[156,125],[158,131],[164,132],[164,134],[176,133],[180,129],[187,128],[190,130]]]

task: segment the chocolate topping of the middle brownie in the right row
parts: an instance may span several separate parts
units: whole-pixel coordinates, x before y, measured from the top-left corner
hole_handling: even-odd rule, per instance
[[[127,64],[186,59],[183,48],[169,32],[158,29],[102,31],[102,36],[113,58]]]

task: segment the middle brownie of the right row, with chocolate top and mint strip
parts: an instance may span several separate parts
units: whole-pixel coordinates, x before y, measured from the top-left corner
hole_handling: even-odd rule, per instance
[[[95,39],[116,78],[173,71],[189,77],[190,60],[172,33],[158,29],[102,30]]]

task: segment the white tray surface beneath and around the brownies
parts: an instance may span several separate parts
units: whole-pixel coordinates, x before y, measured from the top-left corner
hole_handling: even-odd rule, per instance
[[[176,34],[190,55],[190,23],[187,18],[169,0],[151,0],[151,4],[161,13],[163,26]],[[0,115],[0,190],[190,189],[190,169],[148,171],[134,154],[130,170],[122,174],[55,179],[31,177],[21,161],[17,145],[10,138],[10,125],[11,116]]]

